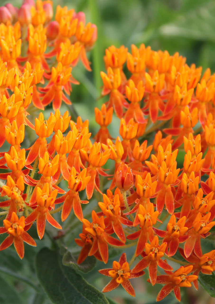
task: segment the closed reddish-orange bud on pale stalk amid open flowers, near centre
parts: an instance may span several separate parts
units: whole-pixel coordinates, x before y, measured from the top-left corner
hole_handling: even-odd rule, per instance
[[[134,186],[134,176],[131,168],[125,163],[120,163],[115,174],[116,186],[121,190],[128,190]]]

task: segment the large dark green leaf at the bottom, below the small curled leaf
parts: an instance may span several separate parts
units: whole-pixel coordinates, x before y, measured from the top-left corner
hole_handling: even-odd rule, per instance
[[[105,296],[72,267],[61,263],[56,251],[48,248],[36,256],[39,281],[54,304],[109,304]]]

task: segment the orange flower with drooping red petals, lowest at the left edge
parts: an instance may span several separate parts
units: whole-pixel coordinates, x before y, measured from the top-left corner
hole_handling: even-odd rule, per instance
[[[18,218],[15,212],[12,212],[11,219],[3,220],[5,231],[9,234],[8,237],[2,242],[0,245],[0,251],[8,248],[10,245],[14,244],[15,250],[17,254],[19,255],[20,259],[24,257],[24,244],[23,241],[31,246],[36,246],[35,241],[32,239],[32,237],[26,232],[30,227],[25,226],[25,217],[21,216]]]

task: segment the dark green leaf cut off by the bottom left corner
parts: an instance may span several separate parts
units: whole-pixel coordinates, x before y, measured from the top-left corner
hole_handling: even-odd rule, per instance
[[[1,286],[1,292],[0,292],[0,303],[1,304],[21,304],[19,295],[15,291],[15,288],[13,288],[11,285],[8,284],[1,276],[0,276],[0,286]]]

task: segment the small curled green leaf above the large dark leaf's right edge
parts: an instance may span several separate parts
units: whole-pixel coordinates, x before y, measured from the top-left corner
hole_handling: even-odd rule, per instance
[[[82,272],[89,272],[96,265],[95,257],[87,257],[86,260],[80,265],[77,264],[78,255],[72,255],[69,251],[67,251],[63,256],[63,265],[64,266],[72,266],[74,269],[77,269]]]

